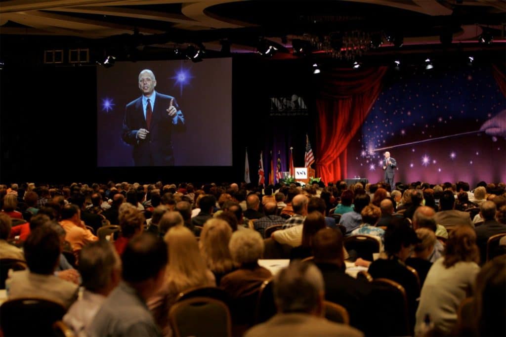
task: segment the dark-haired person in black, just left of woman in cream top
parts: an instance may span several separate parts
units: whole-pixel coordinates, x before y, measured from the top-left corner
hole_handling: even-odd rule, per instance
[[[373,261],[368,270],[373,278],[388,278],[404,287],[411,329],[414,326],[416,299],[420,288],[415,275],[406,268],[405,261],[417,242],[418,237],[408,224],[396,223],[388,226],[385,231],[385,252],[388,259]]]

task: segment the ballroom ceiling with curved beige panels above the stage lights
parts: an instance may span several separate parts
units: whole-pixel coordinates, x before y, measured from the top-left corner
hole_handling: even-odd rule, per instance
[[[400,34],[404,49],[476,43],[485,30],[504,43],[504,0],[8,0],[0,1],[0,35],[66,36],[104,46],[175,48],[201,43],[255,52],[259,37],[291,54],[292,39],[339,32]],[[384,39],[384,47],[393,44]]]

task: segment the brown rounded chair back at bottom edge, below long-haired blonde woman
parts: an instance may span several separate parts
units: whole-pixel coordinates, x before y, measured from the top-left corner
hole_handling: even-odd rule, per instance
[[[168,312],[168,320],[175,337],[232,335],[227,305],[212,298],[195,297],[176,302]]]

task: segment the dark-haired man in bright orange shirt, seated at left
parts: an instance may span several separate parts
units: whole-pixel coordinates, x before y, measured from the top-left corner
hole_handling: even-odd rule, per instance
[[[79,207],[74,204],[63,206],[61,210],[60,225],[62,225],[67,235],[65,240],[70,243],[74,252],[81,250],[86,244],[96,241],[98,238],[86,228],[85,224],[81,222],[81,211]]]

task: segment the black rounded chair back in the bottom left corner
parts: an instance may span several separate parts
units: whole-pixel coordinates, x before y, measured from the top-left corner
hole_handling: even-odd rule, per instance
[[[53,336],[53,323],[61,320],[66,311],[49,300],[9,300],[0,307],[0,326],[5,336]]]

